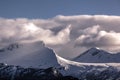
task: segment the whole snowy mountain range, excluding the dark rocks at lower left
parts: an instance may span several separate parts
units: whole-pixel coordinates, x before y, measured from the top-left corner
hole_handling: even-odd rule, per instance
[[[60,57],[41,41],[14,43],[0,49],[0,63],[6,64],[5,68],[0,68],[3,71],[0,77],[4,75],[4,71],[7,71],[5,74],[10,72],[13,76],[16,69],[19,70],[17,66],[21,66],[25,70],[46,70],[53,67],[63,76],[72,76],[79,80],[119,80],[119,61],[119,53],[112,54],[98,48],[91,48],[71,61]],[[12,70],[9,65],[13,65]],[[18,72],[21,72],[21,69]]]

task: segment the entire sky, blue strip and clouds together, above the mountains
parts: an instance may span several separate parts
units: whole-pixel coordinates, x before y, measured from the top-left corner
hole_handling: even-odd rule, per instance
[[[120,52],[119,0],[0,0],[0,48],[43,41],[64,58]]]

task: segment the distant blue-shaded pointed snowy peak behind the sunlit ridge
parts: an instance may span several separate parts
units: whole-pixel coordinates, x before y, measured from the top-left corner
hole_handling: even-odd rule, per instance
[[[110,53],[99,48],[91,48],[74,59],[86,63],[119,63],[120,53]]]

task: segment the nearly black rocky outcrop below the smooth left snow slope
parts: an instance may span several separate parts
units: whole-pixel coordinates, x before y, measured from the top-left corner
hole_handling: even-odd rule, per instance
[[[56,68],[23,68],[0,64],[0,80],[78,80],[72,76],[63,76]]]

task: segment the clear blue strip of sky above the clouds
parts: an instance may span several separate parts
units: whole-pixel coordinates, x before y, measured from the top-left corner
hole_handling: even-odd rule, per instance
[[[0,0],[0,17],[51,18],[56,15],[120,15],[119,0]]]

